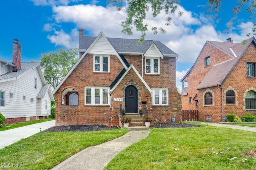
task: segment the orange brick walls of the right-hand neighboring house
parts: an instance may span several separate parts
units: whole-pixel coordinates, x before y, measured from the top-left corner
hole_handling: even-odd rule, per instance
[[[199,112],[200,121],[207,121],[206,116],[211,116],[213,122],[222,121],[222,117],[231,113],[235,113],[238,117],[245,115],[246,112],[256,115],[256,109],[245,109],[246,93],[250,90],[256,92],[255,77],[247,77],[246,75],[246,64],[248,62],[256,63],[255,55],[256,46],[255,43],[251,43],[221,85],[197,90],[196,88],[212,66],[232,59],[230,55],[220,51],[220,49],[206,44],[188,76],[188,94],[182,96],[182,110],[196,109]],[[208,56],[211,59],[210,66],[205,66],[204,59]],[[226,104],[226,92],[228,90],[234,92],[235,104]],[[211,106],[204,105],[206,92],[212,93],[213,104]],[[198,94],[199,106],[195,106],[193,100],[196,94]],[[192,103],[189,102],[190,97]]]

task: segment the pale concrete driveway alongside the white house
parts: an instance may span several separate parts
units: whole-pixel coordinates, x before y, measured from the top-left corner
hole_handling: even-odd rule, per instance
[[[4,139],[0,140],[0,149],[40,132],[39,128],[42,128],[41,130],[44,131],[52,126],[55,126],[55,120],[0,131],[0,139]]]

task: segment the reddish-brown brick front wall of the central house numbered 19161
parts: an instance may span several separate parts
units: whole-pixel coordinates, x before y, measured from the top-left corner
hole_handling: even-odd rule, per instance
[[[80,54],[80,57],[82,54]],[[142,55],[124,55],[131,65],[133,64],[139,74],[142,74]],[[145,63],[145,59],[143,59]],[[145,66],[144,66],[145,67]],[[138,90],[138,106],[142,101],[147,102],[148,115],[153,123],[170,123],[170,117],[181,116],[181,96],[176,90],[176,60],[175,57],[160,59],[160,74],[145,74],[143,79],[150,88],[168,88],[168,106],[152,106],[151,92],[133,69],[124,76],[122,81],[110,94],[111,98],[122,98],[123,101],[111,101],[110,105],[85,105],[85,87],[109,87],[124,66],[116,55],[110,55],[110,72],[93,72],[93,54],[86,54],[78,66],[58,88],[56,97],[56,125],[92,125],[102,124],[108,126],[122,126],[120,124],[120,104],[125,106],[125,89],[135,86]],[[131,84],[130,80],[133,80]],[[62,104],[62,93],[66,89],[74,89],[78,94],[78,106]],[[67,101],[67,93],[64,101]]]

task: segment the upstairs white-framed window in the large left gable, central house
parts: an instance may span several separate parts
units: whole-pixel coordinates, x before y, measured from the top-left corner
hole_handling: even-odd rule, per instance
[[[94,72],[109,72],[110,57],[107,55],[94,55],[93,57],[93,71]]]

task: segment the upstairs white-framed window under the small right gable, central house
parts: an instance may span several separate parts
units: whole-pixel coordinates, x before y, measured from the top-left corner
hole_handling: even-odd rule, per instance
[[[146,57],[145,67],[147,74],[160,74],[160,58]]]

